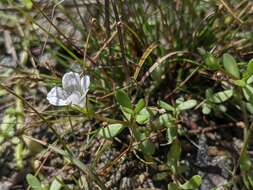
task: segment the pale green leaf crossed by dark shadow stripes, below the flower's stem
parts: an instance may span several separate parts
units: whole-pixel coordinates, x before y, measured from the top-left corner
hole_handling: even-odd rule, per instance
[[[117,136],[125,128],[122,124],[111,124],[101,128],[98,134],[106,139],[112,139]]]

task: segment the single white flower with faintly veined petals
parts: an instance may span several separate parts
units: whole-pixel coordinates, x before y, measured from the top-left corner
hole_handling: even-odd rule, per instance
[[[80,78],[78,73],[69,72],[62,78],[62,88],[53,87],[47,94],[47,100],[55,106],[85,106],[86,94],[90,86],[90,77]]]

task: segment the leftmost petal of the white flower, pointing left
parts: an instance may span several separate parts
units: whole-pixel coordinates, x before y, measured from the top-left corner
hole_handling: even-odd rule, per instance
[[[67,94],[60,87],[53,87],[47,94],[47,100],[54,106],[68,105],[66,102]]]

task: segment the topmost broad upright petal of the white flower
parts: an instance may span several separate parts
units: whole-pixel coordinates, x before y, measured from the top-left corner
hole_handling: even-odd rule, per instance
[[[78,73],[69,72],[62,78],[62,87],[70,95],[74,91],[81,90],[81,79]]]

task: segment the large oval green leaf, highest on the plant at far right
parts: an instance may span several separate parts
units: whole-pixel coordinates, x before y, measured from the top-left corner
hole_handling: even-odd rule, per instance
[[[235,78],[240,78],[240,72],[235,59],[230,55],[225,53],[223,55],[223,66],[225,70]]]

